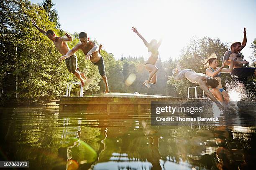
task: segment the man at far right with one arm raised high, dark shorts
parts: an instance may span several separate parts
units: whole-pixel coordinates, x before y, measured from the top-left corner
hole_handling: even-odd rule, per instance
[[[226,51],[223,56],[223,63],[230,66],[229,57],[232,53],[235,55],[235,62],[233,71],[230,73],[233,77],[238,78],[239,81],[245,83],[247,77],[256,75],[256,68],[253,67],[243,67],[243,64],[248,64],[248,61],[243,61],[243,57],[240,51],[246,46],[246,28],[243,29],[243,42],[233,42],[230,46],[230,50]]]

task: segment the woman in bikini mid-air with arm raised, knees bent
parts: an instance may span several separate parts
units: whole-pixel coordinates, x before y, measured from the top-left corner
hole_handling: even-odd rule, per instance
[[[150,88],[149,83],[151,84],[156,84],[156,72],[158,71],[158,68],[155,66],[156,61],[158,59],[158,48],[161,45],[162,40],[151,40],[150,43],[148,43],[144,37],[137,31],[137,28],[132,27],[132,31],[135,32],[141,40],[143,40],[144,44],[146,47],[148,47],[148,52],[151,52],[150,57],[148,58],[146,64],[145,64],[145,69],[149,72],[148,80],[145,80],[142,85],[145,85],[146,87]]]

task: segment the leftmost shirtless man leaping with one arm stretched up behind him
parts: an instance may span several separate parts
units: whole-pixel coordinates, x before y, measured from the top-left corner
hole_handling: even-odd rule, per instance
[[[67,41],[73,40],[69,34],[65,33],[67,38],[57,37],[52,30],[45,31],[39,28],[34,20],[32,20],[32,24],[36,27],[36,29],[46,35],[54,43],[55,47],[62,55],[67,54],[67,52],[70,50],[69,46],[67,45]],[[84,77],[84,79],[86,79],[86,77],[83,72],[79,71],[77,56],[75,54],[72,54],[66,58],[65,62],[69,72],[72,72],[81,81],[82,86],[84,86],[84,80],[82,79],[82,77]]]

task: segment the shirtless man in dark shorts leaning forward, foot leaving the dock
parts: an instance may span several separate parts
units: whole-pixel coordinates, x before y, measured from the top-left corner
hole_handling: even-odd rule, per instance
[[[62,55],[59,60],[64,60],[67,57],[71,56],[76,52],[77,50],[82,50],[84,52],[84,55],[86,55],[86,59],[90,60],[94,65],[98,66],[100,75],[105,83],[105,93],[108,93],[108,78],[105,75],[105,65],[104,65],[104,60],[103,57],[100,55],[100,48],[99,46],[95,43],[89,40],[87,37],[87,33],[85,32],[80,32],[79,33],[79,39],[80,43],[78,43],[72,50],[69,50],[67,54]]]

